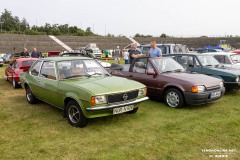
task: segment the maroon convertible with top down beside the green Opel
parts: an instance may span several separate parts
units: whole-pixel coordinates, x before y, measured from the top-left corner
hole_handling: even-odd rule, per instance
[[[148,96],[164,99],[172,108],[212,102],[225,92],[222,80],[188,73],[170,57],[138,58],[131,65],[113,64],[110,71],[145,84]]]

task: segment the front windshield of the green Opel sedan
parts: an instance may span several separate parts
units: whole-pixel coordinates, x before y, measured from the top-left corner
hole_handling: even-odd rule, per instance
[[[67,60],[57,63],[59,79],[109,75],[95,60]]]

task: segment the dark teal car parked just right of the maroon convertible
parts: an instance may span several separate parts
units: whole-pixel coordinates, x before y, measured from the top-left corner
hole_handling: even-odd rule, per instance
[[[240,89],[240,71],[223,67],[213,56],[205,54],[172,54],[170,56],[187,71],[222,79],[226,90]]]

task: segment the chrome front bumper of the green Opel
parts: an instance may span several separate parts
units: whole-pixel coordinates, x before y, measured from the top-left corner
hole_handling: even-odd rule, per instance
[[[144,98],[136,99],[135,101],[131,101],[131,102],[114,104],[114,105],[110,105],[110,106],[101,106],[101,107],[95,107],[95,108],[86,108],[86,110],[87,110],[87,111],[103,111],[103,110],[109,110],[109,109],[113,109],[113,108],[118,108],[118,107],[123,107],[123,106],[138,104],[138,103],[144,102],[144,101],[146,101],[146,100],[148,100],[148,99],[149,99],[148,97],[144,97]]]

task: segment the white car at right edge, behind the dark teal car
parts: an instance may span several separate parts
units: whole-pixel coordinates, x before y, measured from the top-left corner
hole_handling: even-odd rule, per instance
[[[240,55],[231,52],[208,52],[203,53],[206,55],[212,55],[218,60],[223,66],[231,69],[240,70]]]

